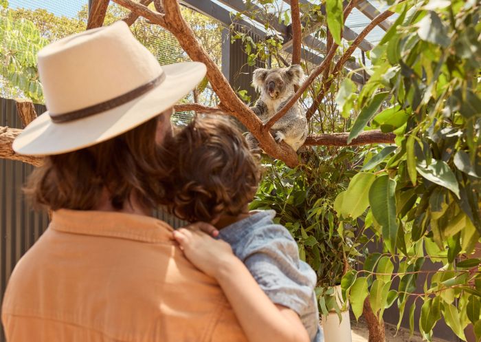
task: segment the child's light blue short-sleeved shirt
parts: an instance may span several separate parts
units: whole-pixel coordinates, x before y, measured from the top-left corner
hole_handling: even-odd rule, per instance
[[[221,229],[219,237],[232,246],[267,297],[297,312],[311,341],[322,342],[315,272],[299,258],[289,231],[273,222],[275,216],[275,211],[259,211]]]

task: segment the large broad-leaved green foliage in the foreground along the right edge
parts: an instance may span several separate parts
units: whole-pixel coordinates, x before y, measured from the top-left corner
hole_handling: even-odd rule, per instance
[[[384,246],[383,253],[363,250],[363,270],[346,274],[343,292],[353,307],[370,294],[379,316],[396,302],[402,318],[412,305],[411,328],[420,307],[429,341],[441,317],[460,339],[473,324],[479,341],[481,259],[473,252],[481,235],[481,4],[405,1],[394,10],[398,19],[370,54],[370,80],[359,94],[338,96],[362,109],[350,139],[373,128],[397,136],[396,146],[370,153],[337,197],[339,220],[353,222],[362,211],[364,232]],[[376,114],[370,108],[381,97],[391,97],[390,107]],[[359,207],[346,200],[353,196]],[[439,269],[425,270],[425,261]],[[429,277],[415,292],[419,274]]]

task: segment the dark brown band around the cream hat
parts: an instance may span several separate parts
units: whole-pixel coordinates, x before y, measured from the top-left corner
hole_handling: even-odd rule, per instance
[[[160,76],[154,78],[149,83],[141,85],[140,87],[137,87],[130,92],[126,92],[125,94],[122,94],[115,98],[111,98],[110,100],[98,103],[97,105],[85,107],[75,111],[69,111],[63,114],[49,113],[49,116],[50,118],[52,118],[52,122],[55,123],[70,122],[82,118],[87,118],[88,116],[93,116],[104,111],[108,111],[109,109],[124,105],[124,103],[128,103],[129,101],[144,95],[146,92],[150,91],[151,89],[157,87],[157,85],[162,83],[165,78],[166,74],[162,73]]]

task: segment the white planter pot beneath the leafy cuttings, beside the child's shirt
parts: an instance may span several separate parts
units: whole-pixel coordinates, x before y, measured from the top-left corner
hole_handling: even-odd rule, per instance
[[[336,299],[339,307],[342,307],[341,286],[335,287]],[[324,330],[324,342],[352,342],[353,336],[350,332],[349,310],[341,312],[342,321],[336,312],[330,312],[322,316],[322,330]]]

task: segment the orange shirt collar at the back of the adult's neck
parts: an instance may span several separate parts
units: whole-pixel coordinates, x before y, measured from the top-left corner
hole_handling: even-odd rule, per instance
[[[113,211],[60,209],[49,225],[54,231],[82,235],[118,237],[141,242],[172,241],[173,228],[154,217]]]

